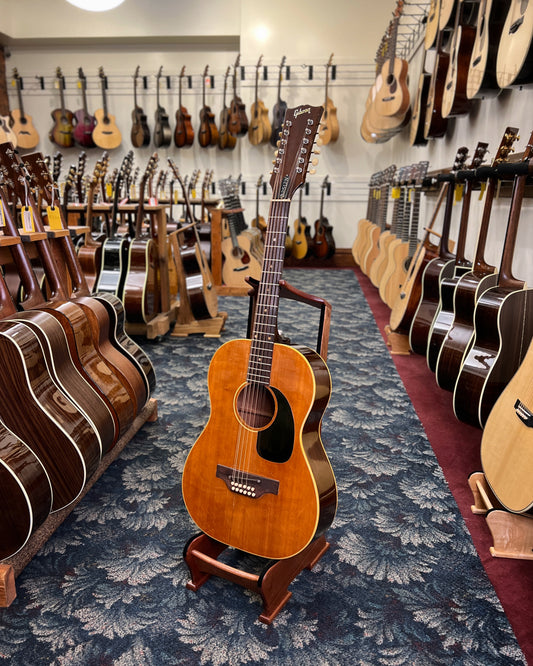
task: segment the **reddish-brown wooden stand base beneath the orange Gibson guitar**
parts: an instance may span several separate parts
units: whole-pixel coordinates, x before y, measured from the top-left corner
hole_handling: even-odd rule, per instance
[[[266,569],[259,575],[237,569],[218,561],[228,546],[206,534],[193,537],[185,546],[183,556],[189,567],[191,580],[186,587],[196,592],[211,576],[224,578],[259,594],[263,612],[259,620],[271,624],[292,596],[288,587],[303,569],[312,569],[329,548],[324,536],[311,541],[301,553],[286,560],[265,560]]]

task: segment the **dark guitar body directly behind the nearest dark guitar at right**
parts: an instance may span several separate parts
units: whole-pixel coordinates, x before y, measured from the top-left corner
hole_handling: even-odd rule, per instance
[[[481,294],[498,283],[498,274],[478,275],[473,271],[459,279],[454,292],[454,317],[437,359],[435,377],[440,388],[453,391],[455,382],[474,339],[474,310]]]

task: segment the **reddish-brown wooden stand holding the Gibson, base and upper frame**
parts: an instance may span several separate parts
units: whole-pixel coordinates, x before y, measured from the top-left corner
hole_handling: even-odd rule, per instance
[[[252,292],[250,294],[248,335],[252,328],[257,295],[257,282],[255,280],[249,282]],[[325,360],[329,342],[331,305],[324,299],[295,289],[284,280],[280,281],[280,297],[320,309],[317,352]],[[280,340],[279,333],[277,339]],[[284,340],[284,342],[287,341]],[[259,620],[265,624],[271,624],[292,596],[292,592],[288,589],[289,585],[304,569],[312,569],[315,566],[328,550],[329,543],[322,535],[311,541],[306,548],[293,557],[284,560],[265,560],[256,557],[254,559],[262,564],[259,574],[221,562],[218,558],[228,548],[225,544],[215,541],[203,533],[192,537],[183,549],[183,557],[191,574],[191,580],[186,583],[187,589],[197,592],[211,576],[240,585],[261,597],[263,612],[259,615]],[[233,551],[233,549],[231,550]]]

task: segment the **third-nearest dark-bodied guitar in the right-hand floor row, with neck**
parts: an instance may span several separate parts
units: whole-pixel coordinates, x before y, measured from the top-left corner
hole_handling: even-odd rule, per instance
[[[455,248],[455,260],[453,262],[453,273],[450,276],[443,275],[439,284],[439,304],[431,323],[427,343],[426,359],[428,367],[435,372],[440,349],[453,323],[453,310],[455,289],[460,278],[471,270],[472,263],[467,259],[466,238],[470,214],[470,201],[474,186],[478,184],[476,170],[481,166],[488,149],[488,144],[480,141],[474,152],[474,157],[465,171],[457,173],[456,182],[462,184],[462,207],[459,222],[459,233],[457,236],[457,247]]]

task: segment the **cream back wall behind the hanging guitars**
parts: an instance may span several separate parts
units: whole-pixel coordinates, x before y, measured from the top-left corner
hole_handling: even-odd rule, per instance
[[[111,154],[112,165],[118,164],[130,149],[129,132],[133,107],[132,75],[137,65],[148,76],[148,90],[139,91],[139,104],[148,115],[153,129],[155,74],[163,65],[163,73],[172,76],[172,89],[161,90],[161,104],[174,121],[177,107],[178,79],[181,67],[193,77],[192,90],[184,91],[184,104],[198,124],[201,108],[201,74],[206,64],[215,75],[215,88],[209,91],[207,103],[218,115],[222,106],[223,74],[241,53],[245,80],[239,94],[249,112],[254,99],[255,65],[261,54],[268,66],[268,81],[261,81],[260,98],[272,111],[277,99],[277,72],[283,55],[291,68],[290,81],[283,81],[282,98],[289,106],[302,102],[321,104],[324,98],[325,64],[331,53],[337,65],[337,77],[330,82],[330,97],[337,106],[340,136],[336,144],[323,147],[317,173],[308,177],[309,196],[304,198],[303,214],[309,222],[318,215],[322,181],[327,174],[332,183],[331,196],[325,202],[324,214],[334,227],[338,247],[351,247],[356,223],[366,209],[369,174],[382,168],[391,159],[391,146],[369,146],[359,135],[364,101],[373,81],[373,58],[389,20],[392,0],[372,3],[332,0],[296,0],[291,3],[271,0],[258,12],[250,0],[126,0],[105,14],[83,12],[65,0],[17,0],[3,2],[5,20],[2,29],[10,37],[6,61],[8,77],[17,67],[24,79],[25,110],[33,116],[41,142],[39,150],[53,153],[56,147],[47,138],[52,127],[50,113],[58,106],[54,89],[56,67],[66,77],[65,101],[75,111],[81,106],[76,84],[78,67],[88,77],[89,109],[101,107],[98,67],[104,66],[108,76],[109,112],[116,116],[122,131],[122,146]],[[364,15],[364,20],[363,20]],[[28,16],[34,17],[29,21]],[[60,20],[58,20],[58,16]],[[266,39],[257,36],[260,22]],[[9,32],[7,30],[9,28]],[[313,65],[313,81],[308,78],[308,66]],[[35,76],[45,77],[45,90],[39,88]],[[10,105],[17,106],[14,90],[10,90]],[[228,102],[231,95],[228,95]],[[173,129],[173,127],[172,127]],[[153,148],[137,149],[137,162],[143,167]],[[64,150],[65,165],[76,161],[77,150]],[[167,152],[159,151],[161,161]],[[89,166],[100,155],[91,150]],[[268,172],[273,149],[251,146],[246,137],[239,139],[233,152],[216,148],[203,149],[198,144],[185,151],[168,150],[182,173],[194,168],[212,168],[215,178],[242,173],[247,183],[242,197],[247,207],[246,217],[255,214],[255,183]],[[262,196],[262,214],[268,211],[270,189]],[[296,210],[293,210],[296,217]],[[291,214],[292,215],[292,214]]]

